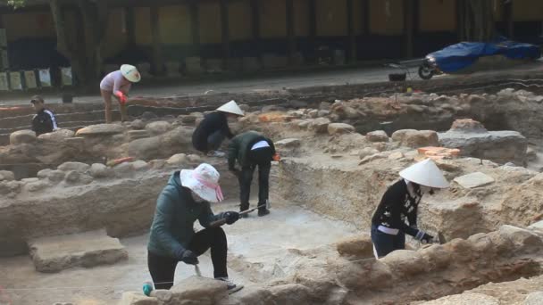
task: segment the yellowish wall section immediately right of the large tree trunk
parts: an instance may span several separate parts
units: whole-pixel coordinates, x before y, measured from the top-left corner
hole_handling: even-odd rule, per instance
[[[120,17],[122,13],[122,9],[113,9],[109,12],[107,30],[104,37],[107,43],[102,48],[102,56],[104,58],[119,54],[128,42],[127,33],[122,32],[122,22],[126,22],[126,18]]]

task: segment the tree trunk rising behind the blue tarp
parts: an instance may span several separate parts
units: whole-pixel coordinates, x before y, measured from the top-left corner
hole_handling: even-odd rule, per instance
[[[468,41],[495,38],[493,0],[469,0],[464,4],[464,35]]]

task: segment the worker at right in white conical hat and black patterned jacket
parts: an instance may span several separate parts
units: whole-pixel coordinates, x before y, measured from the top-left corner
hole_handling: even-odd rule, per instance
[[[402,179],[383,194],[373,214],[372,243],[377,259],[391,251],[405,249],[405,234],[431,243],[434,237],[417,228],[419,202],[423,194],[433,194],[434,189],[448,187],[447,179],[430,159],[400,171],[399,175]]]

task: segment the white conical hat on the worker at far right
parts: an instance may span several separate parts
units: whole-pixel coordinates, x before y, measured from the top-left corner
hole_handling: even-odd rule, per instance
[[[418,185],[425,185],[435,188],[447,188],[447,179],[441,173],[436,163],[430,159],[420,161],[407,169],[400,171],[400,177]]]

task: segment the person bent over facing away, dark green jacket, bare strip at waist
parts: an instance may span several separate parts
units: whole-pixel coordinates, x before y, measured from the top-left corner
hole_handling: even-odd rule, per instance
[[[275,146],[272,140],[255,131],[247,131],[235,136],[230,142],[228,165],[239,180],[239,210],[249,209],[249,196],[253,173],[258,167],[258,204],[265,205],[268,201],[270,169],[272,158],[275,155]],[[236,168],[238,161],[241,169]],[[258,216],[270,214],[266,207],[258,209]]]

